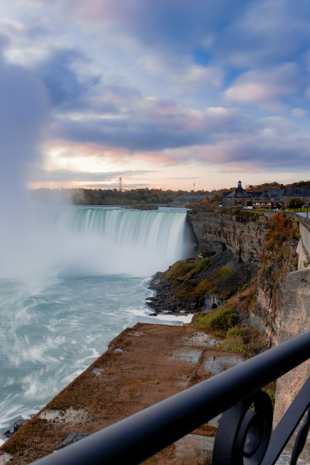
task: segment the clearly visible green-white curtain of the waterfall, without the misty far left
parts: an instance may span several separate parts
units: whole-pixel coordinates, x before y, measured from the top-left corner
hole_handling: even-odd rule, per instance
[[[71,208],[55,228],[67,264],[94,272],[146,276],[192,252],[184,212]]]

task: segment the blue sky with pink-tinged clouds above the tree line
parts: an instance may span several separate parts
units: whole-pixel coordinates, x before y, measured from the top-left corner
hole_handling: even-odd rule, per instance
[[[2,0],[2,178],[310,179],[309,0]]]

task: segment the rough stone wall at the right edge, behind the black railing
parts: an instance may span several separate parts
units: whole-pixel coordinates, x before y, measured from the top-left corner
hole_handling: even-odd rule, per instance
[[[310,329],[310,266],[286,275],[279,343],[294,338],[308,329]],[[307,360],[277,380],[273,428],[276,427],[309,376],[310,360]],[[296,434],[294,433],[288,444],[291,448]],[[306,461],[310,460],[309,437],[300,457]]]

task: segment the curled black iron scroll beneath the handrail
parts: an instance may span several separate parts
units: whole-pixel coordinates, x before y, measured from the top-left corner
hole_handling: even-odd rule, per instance
[[[249,407],[254,404],[254,411]],[[213,465],[259,465],[272,427],[272,404],[257,392],[223,413],[215,437]]]

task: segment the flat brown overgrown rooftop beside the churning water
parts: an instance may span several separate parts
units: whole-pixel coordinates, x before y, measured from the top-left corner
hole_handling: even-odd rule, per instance
[[[52,452],[69,431],[96,432],[208,378],[204,358],[219,352],[191,342],[197,332],[201,330],[142,323],[127,328],[0,452],[13,455],[12,465],[30,463]],[[186,361],[192,350],[200,353],[198,362]]]

